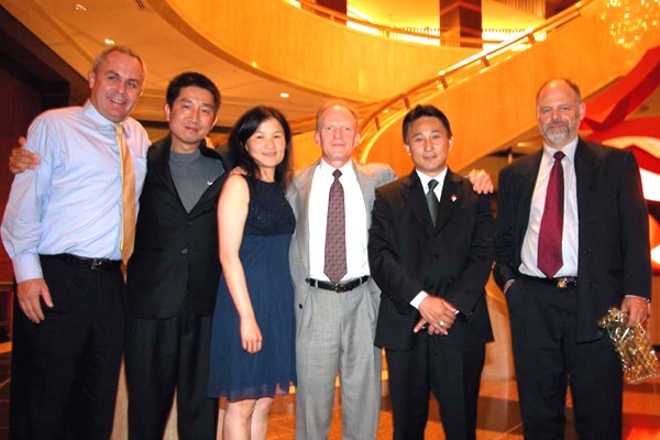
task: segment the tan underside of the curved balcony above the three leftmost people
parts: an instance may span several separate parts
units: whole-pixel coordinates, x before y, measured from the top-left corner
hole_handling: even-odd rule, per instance
[[[319,102],[328,99],[328,95],[266,79],[209,53],[141,0],[97,0],[88,4],[87,11],[62,0],[2,0],[1,4],[82,77],[106,38],[141,54],[148,75],[133,112],[140,120],[163,121],[167,84],[189,70],[204,73],[221,89],[218,124],[223,127],[231,127],[256,102],[277,107],[288,118],[300,118],[312,114]],[[289,92],[290,98],[280,98],[282,91]]]

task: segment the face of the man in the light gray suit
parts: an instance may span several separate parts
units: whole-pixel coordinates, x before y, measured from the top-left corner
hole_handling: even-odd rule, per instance
[[[332,106],[320,116],[314,139],[323,152],[323,160],[341,168],[360,142],[358,121],[345,107]]]

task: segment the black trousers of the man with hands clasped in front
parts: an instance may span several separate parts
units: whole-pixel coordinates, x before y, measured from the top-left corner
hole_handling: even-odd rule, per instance
[[[451,330],[450,330],[451,331]],[[413,350],[386,350],[395,440],[424,440],[432,391],[448,440],[474,439],[485,345],[438,343],[419,334]]]

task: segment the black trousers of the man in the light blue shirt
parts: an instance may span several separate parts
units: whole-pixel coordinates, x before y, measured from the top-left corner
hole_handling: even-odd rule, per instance
[[[124,332],[119,268],[41,257],[54,307],[30,321],[14,301],[11,439],[109,439]]]

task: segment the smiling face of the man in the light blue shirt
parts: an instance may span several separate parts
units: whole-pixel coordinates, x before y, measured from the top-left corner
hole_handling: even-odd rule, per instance
[[[144,69],[140,61],[121,52],[110,52],[89,73],[89,100],[101,116],[121,122],[131,113],[142,95]]]

